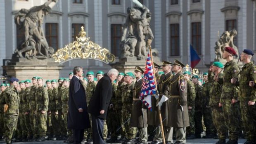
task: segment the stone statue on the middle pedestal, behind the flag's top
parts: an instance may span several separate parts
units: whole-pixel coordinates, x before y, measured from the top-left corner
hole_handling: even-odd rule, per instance
[[[137,0],[133,0],[137,6],[128,7],[128,17],[122,26],[121,56],[120,58],[136,56],[138,60],[147,55],[148,39],[153,39],[154,35],[149,26],[151,13],[149,9]],[[128,35],[126,37],[126,35]]]

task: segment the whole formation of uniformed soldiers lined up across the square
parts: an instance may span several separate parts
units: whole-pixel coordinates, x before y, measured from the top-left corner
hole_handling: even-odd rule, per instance
[[[140,92],[144,68],[119,73],[112,83],[112,98],[104,122],[106,142],[122,144],[185,144],[186,139],[215,138],[216,144],[256,144],[256,66],[251,50],[243,50],[242,69],[234,61],[232,47],[225,47],[223,65],[215,61],[203,73],[203,81],[185,65],[162,61],[154,63],[157,93],[151,97],[151,110],[143,104]],[[96,77],[94,77],[96,76]],[[80,82],[89,104],[97,80],[103,71],[89,71]],[[67,129],[69,78],[45,80],[35,76],[28,80],[9,79],[0,85],[0,138],[7,144],[64,140],[73,143]],[[159,115],[161,114],[161,120]],[[90,123],[91,123],[91,116]],[[164,138],[161,130],[163,124]],[[91,123],[92,125],[92,123]],[[226,142],[226,139],[228,141]],[[82,144],[92,144],[92,129],[84,132]]]

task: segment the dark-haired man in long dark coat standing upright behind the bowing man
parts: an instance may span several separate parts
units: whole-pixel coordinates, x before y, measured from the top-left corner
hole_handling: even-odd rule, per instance
[[[84,129],[90,128],[90,121],[85,90],[79,81],[79,77],[83,75],[83,68],[75,66],[73,73],[74,76],[69,85],[68,129],[73,130],[73,144],[80,144],[83,140]]]

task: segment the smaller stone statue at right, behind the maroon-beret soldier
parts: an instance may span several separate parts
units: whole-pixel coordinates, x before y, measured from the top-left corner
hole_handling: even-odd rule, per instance
[[[237,47],[234,45],[234,37],[237,35],[237,31],[235,29],[231,31],[225,31],[221,36],[220,39],[215,43],[215,60],[222,61],[223,60],[223,52],[225,47],[232,47],[237,52],[237,55],[234,57],[237,58],[239,56],[239,52]]]

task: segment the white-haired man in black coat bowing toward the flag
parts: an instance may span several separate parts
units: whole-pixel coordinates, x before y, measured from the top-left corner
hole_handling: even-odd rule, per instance
[[[116,79],[118,73],[113,68],[107,74],[104,74],[104,77],[98,81],[90,100],[88,112],[92,115],[93,144],[106,144],[103,139],[104,119],[107,118],[107,110],[112,96],[111,83]]]

